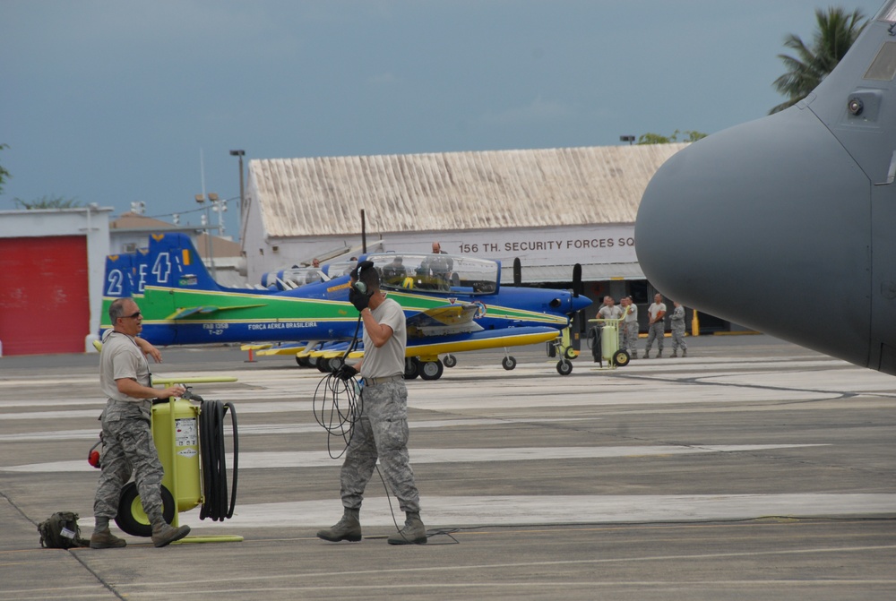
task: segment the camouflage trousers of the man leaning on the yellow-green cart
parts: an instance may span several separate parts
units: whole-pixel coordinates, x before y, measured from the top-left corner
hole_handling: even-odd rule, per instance
[[[93,501],[93,515],[109,519],[116,517],[121,488],[134,473],[143,511],[151,523],[158,523],[162,519],[161,484],[164,470],[156,445],[152,442],[148,417],[136,403],[109,401],[101,419],[102,475]]]

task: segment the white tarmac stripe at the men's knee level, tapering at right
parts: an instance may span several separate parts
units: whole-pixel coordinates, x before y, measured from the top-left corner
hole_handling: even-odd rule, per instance
[[[724,453],[772,451],[800,449],[806,447],[829,446],[827,444],[717,444],[702,446],[614,446],[614,447],[518,447],[505,449],[412,449],[412,464],[431,463],[492,463],[495,461],[545,461],[567,459],[615,459],[668,457],[671,455],[692,455],[694,453]],[[233,456],[228,454],[227,465],[233,465]],[[281,468],[332,468],[338,467],[322,451],[271,451],[239,454],[239,469],[281,469]],[[49,461],[20,466],[0,468],[4,472],[52,473],[92,471],[86,459]]]

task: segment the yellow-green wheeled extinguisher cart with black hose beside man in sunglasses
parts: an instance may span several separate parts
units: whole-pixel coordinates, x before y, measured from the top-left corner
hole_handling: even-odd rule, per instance
[[[193,384],[236,382],[234,377],[197,377],[153,383]],[[224,449],[224,416],[230,413],[233,427],[232,489],[228,505],[228,474]],[[224,521],[233,516],[237,501],[237,416],[232,403],[204,400],[189,388],[182,398],[157,399],[152,405],[152,440],[165,469],[162,478],[162,515],[177,528],[177,514],[202,505],[199,518]],[[92,461],[91,461],[92,463]],[[152,526],[143,511],[137,485],[124,485],[118,502],[116,525],[134,537],[150,537]],[[239,536],[185,537],[180,543],[240,542]]]

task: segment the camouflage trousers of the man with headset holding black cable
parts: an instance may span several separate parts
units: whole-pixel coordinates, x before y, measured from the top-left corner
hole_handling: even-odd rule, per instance
[[[361,417],[355,423],[340,471],[340,495],[347,509],[360,509],[376,459],[401,511],[420,511],[420,494],[408,455],[408,389],[404,381],[365,386]]]

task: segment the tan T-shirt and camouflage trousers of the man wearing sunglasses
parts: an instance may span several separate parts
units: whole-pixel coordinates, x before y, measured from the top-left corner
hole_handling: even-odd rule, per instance
[[[120,332],[109,332],[99,357],[100,387],[109,396],[99,419],[103,425],[102,475],[93,502],[93,515],[115,518],[122,486],[135,473],[143,511],[153,524],[163,521],[161,482],[164,470],[152,442],[150,416],[152,401],[134,399],[116,390],[115,380],[133,377],[150,386],[146,356],[134,339]]]

